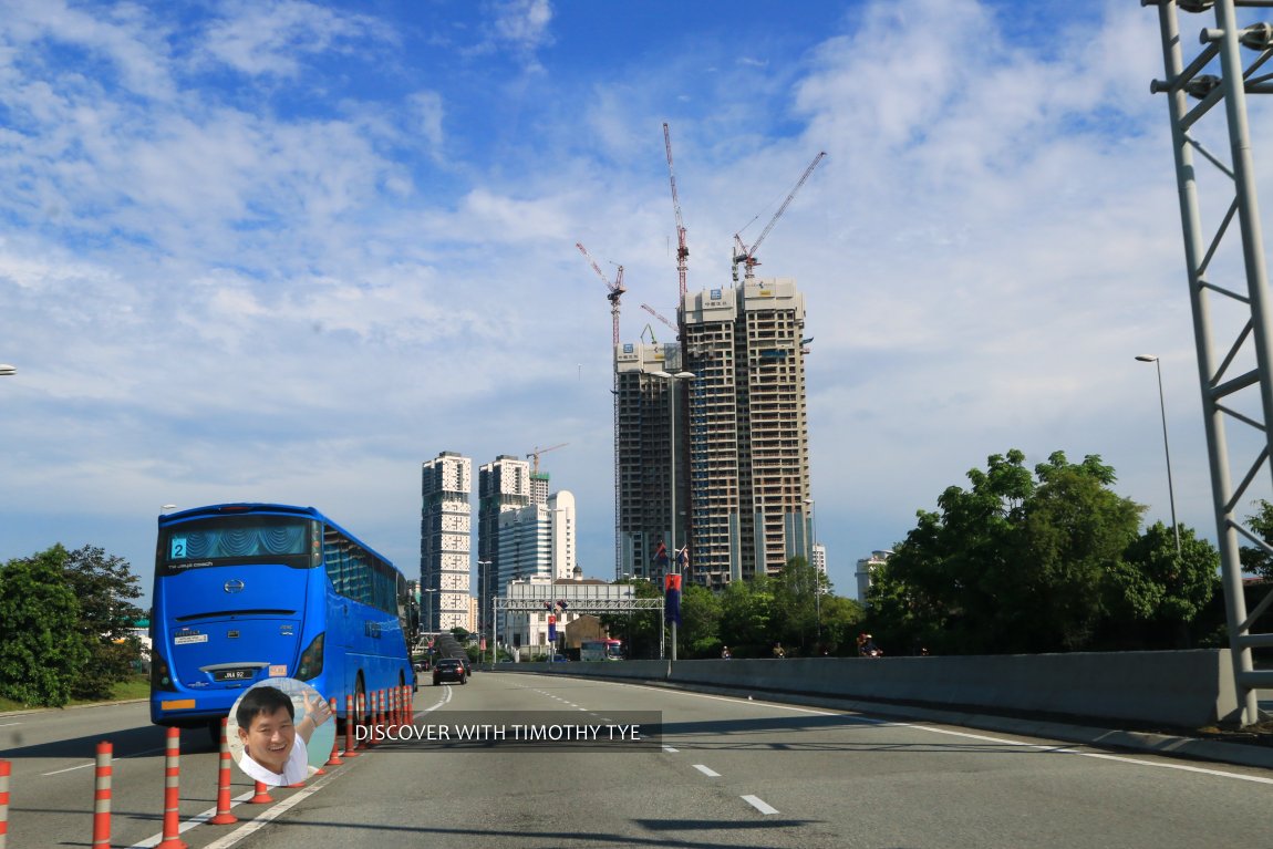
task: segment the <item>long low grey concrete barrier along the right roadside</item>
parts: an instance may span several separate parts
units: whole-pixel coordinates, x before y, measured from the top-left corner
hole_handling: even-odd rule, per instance
[[[502,663],[495,671],[668,681],[1198,728],[1239,717],[1228,649],[974,657]]]

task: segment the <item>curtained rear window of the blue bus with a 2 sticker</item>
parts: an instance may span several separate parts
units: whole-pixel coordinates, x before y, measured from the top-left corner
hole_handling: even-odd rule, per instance
[[[199,566],[271,563],[294,569],[316,565],[311,519],[292,516],[220,516],[164,528],[159,535],[159,574]]]

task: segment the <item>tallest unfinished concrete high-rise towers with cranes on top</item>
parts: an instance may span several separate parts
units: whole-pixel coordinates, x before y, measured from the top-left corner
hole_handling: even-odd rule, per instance
[[[805,300],[789,279],[687,293],[679,345],[615,351],[619,577],[686,547],[719,587],[812,559]]]

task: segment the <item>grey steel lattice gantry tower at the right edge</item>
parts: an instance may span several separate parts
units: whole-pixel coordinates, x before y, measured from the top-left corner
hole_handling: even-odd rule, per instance
[[[1248,612],[1240,537],[1269,554],[1273,547],[1240,513],[1267,491],[1259,488],[1273,472],[1273,304],[1246,95],[1273,93],[1273,75],[1259,73],[1273,57],[1273,27],[1240,24],[1237,9],[1268,8],[1273,0],[1142,0],[1142,5],[1158,8],[1162,31],[1166,79],[1155,80],[1151,90],[1166,94],[1171,115],[1234,684],[1241,722],[1250,724],[1259,719],[1256,689],[1273,686],[1273,671],[1258,672],[1251,663],[1253,648],[1273,645],[1273,634],[1254,630],[1273,593]],[[1206,22],[1212,11],[1214,27],[1202,29],[1202,48],[1185,65],[1181,13],[1185,20]],[[1250,64],[1244,66],[1244,59]],[[1223,109],[1213,108],[1218,106]],[[1227,141],[1227,157],[1203,144],[1208,131]],[[1237,466],[1230,463],[1228,423],[1240,425],[1234,429]]]

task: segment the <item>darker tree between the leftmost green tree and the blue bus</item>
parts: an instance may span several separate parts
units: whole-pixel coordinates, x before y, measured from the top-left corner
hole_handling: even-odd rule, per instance
[[[43,555],[61,564],[62,578],[79,600],[76,630],[89,661],[75,680],[76,699],[107,699],[113,686],[126,680],[140,657],[141,647],[132,628],[143,611],[132,603],[141,597],[137,577],[129,561],[107,555],[95,546],[67,552],[55,545]]]

